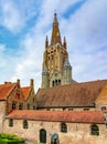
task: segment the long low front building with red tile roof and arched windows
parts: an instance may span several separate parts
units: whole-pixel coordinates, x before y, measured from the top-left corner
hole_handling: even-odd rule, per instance
[[[6,117],[3,132],[46,144],[51,144],[54,133],[58,135],[60,144],[107,143],[107,127],[101,111],[15,110]]]

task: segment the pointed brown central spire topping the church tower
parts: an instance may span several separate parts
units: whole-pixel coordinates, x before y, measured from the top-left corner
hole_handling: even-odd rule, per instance
[[[57,16],[56,16],[56,13],[54,13],[51,44],[54,44],[54,43],[57,43],[57,42],[62,44],[60,29],[58,29],[58,22],[57,22]]]

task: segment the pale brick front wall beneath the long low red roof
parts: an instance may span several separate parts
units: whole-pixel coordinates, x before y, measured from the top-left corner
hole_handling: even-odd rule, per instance
[[[107,144],[107,131],[105,124],[99,126],[99,136],[90,135],[90,124],[66,123],[67,133],[61,133],[60,122],[28,121],[29,128],[23,128],[22,120],[14,120],[13,127],[9,127],[9,120],[4,122],[4,132],[14,133],[21,137],[40,142],[40,130],[46,131],[47,144],[51,142],[51,133],[58,133],[60,144]]]

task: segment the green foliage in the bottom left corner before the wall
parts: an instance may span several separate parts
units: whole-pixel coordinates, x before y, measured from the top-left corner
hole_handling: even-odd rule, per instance
[[[19,144],[19,143],[24,143],[24,140],[13,134],[6,134],[6,133],[0,134],[0,144]]]

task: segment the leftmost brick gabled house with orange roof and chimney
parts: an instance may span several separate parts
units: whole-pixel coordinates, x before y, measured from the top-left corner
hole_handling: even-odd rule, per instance
[[[20,89],[20,80],[17,83],[4,82],[0,85],[0,101],[6,103],[6,114],[14,109],[24,109],[24,96]]]

